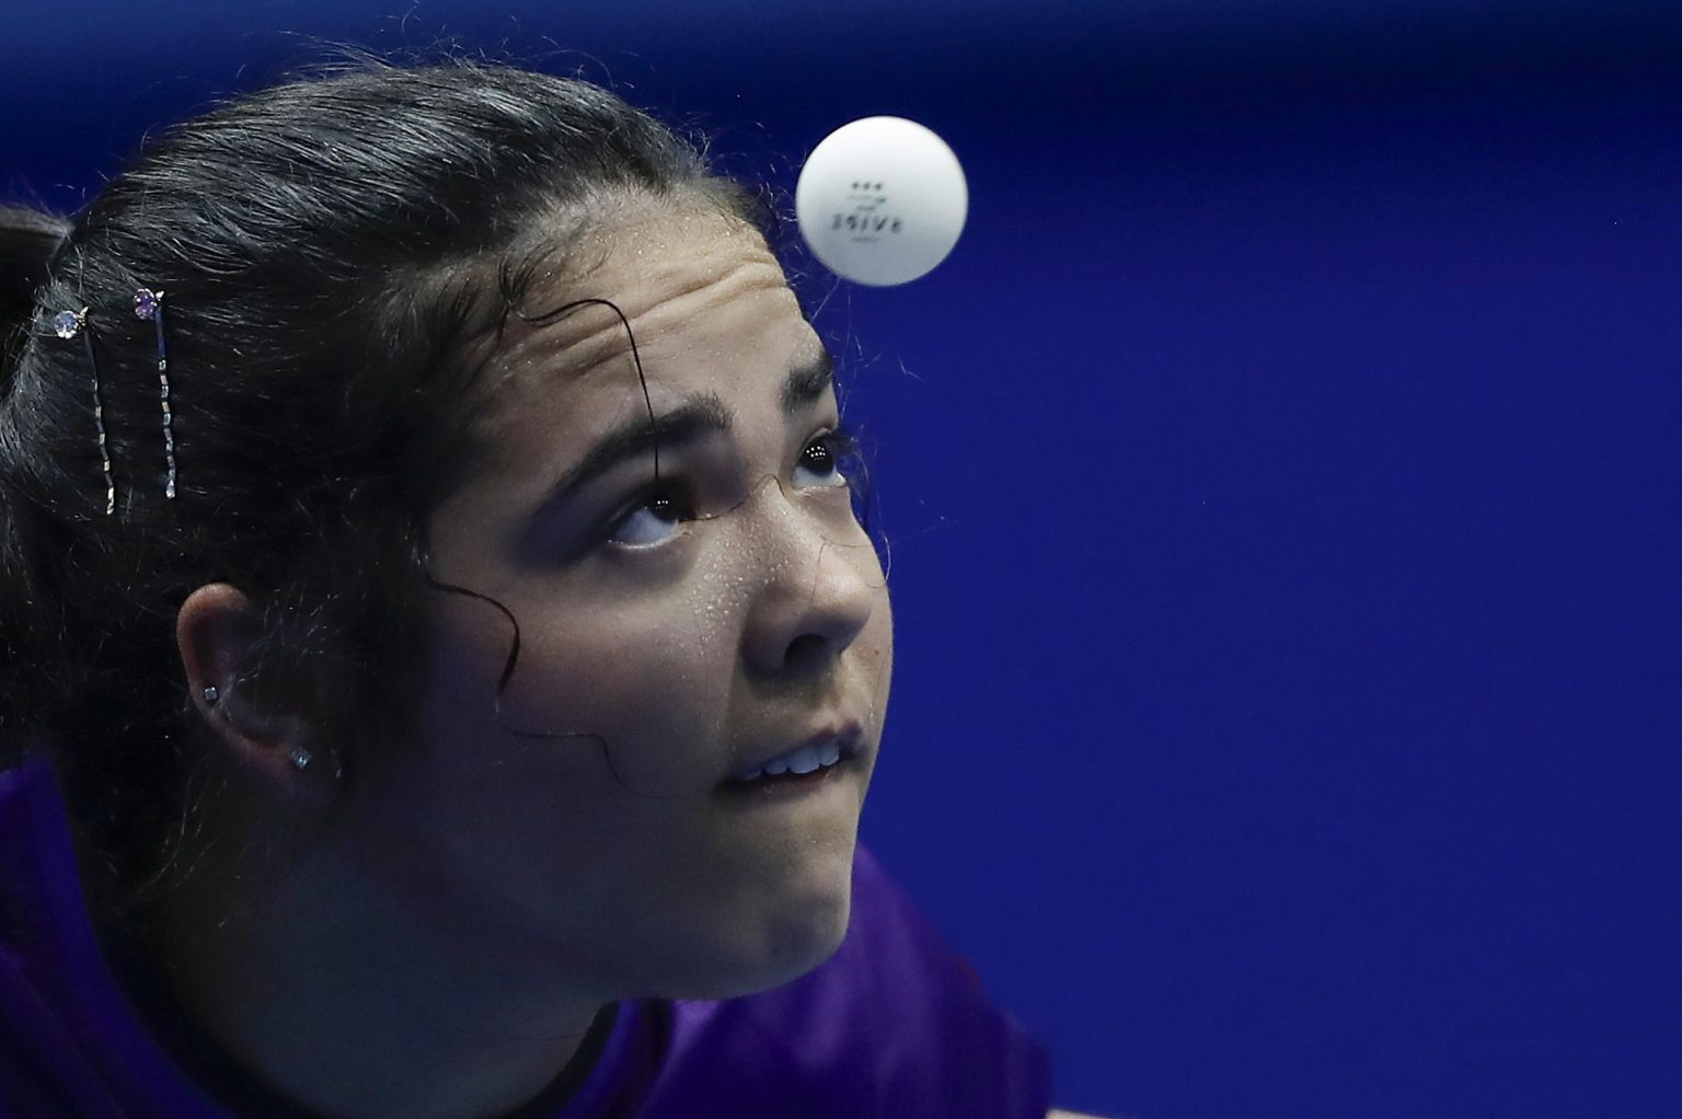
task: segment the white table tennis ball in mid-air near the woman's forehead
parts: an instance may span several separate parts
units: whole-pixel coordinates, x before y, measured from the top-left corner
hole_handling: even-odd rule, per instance
[[[900,116],[866,116],[812,150],[794,214],[831,271],[886,288],[947,257],[964,232],[969,187],[940,136]]]

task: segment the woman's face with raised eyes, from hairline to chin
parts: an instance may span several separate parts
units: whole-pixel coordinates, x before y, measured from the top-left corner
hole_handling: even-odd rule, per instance
[[[648,209],[540,279],[484,372],[483,461],[431,522],[424,742],[382,846],[451,920],[604,996],[792,979],[846,931],[888,698],[883,572],[838,469],[828,358],[747,225]],[[589,251],[589,249],[587,249]],[[653,422],[649,421],[653,411]],[[658,461],[658,468],[656,468]],[[796,798],[727,788],[806,744]]]

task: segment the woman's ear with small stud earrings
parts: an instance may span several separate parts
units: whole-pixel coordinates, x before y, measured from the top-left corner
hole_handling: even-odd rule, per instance
[[[284,799],[325,806],[338,784],[338,759],[320,740],[308,697],[261,678],[261,638],[251,599],[225,582],[193,591],[175,616],[187,692],[227,759]]]

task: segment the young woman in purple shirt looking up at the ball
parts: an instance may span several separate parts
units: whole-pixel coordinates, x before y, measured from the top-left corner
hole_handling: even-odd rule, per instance
[[[7,212],[0,1114],[1045,1114],[856,848],[888,596],[754,219],[466,64]]]

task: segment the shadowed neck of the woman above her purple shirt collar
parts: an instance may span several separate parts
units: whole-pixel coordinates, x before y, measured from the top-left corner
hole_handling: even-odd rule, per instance
[[[377,873],[367,836],[291,840],[256,873],[247,858],[207,867],[156,942],[198,1026],[299,1104],[343,1119],[496,1116],[552,1084],[612,1001],[537,946],[429,907],[424,882]]]

